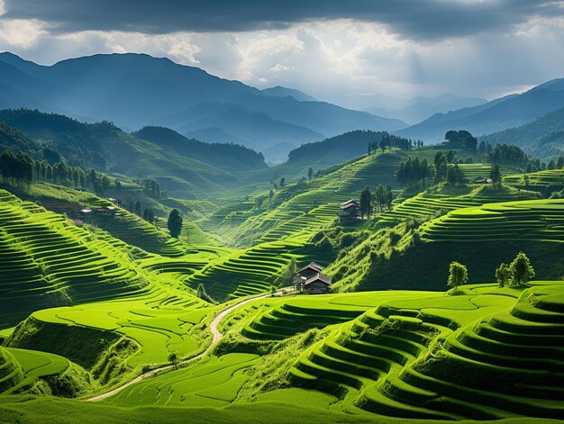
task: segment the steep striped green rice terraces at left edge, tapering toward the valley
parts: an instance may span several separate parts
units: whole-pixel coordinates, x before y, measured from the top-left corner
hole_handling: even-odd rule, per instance
[[[127,252],[0,190],[0,322],[38,307],[120,297],[147,285]]]

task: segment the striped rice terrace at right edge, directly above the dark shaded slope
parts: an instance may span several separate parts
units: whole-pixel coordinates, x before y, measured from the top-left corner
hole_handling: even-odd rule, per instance
[[[421,237],[429,241],[550,240],[564,241],[564,200],[491,203],[459,209],[425,222]]]

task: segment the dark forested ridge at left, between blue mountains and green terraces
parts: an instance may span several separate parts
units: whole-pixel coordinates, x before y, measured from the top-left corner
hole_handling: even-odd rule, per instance
[[[157,179],[169,194],[182,193],[185,198],[231,188],[236,184],[232,171],[239,174],[266,168],[264,158],[250,149],[187,140],[164,128],[144,129],[139,133],[149,140],[143,140],[111,122],[77,122],[64,115],[26,109],[0,111],[0,122],[41,142],[43,157],[51,162],[59,152],[70,165],[95,167],[120,179]],[[12,139],[5,146],[18,149],[21,140]],[[32,154],[40,148],[27,149]]]

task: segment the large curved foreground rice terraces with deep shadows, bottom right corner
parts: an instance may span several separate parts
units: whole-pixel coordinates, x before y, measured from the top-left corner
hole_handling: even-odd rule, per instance
[[[305,351],[291,381],[393,417],[564,417],[564,284],[388,296]]]

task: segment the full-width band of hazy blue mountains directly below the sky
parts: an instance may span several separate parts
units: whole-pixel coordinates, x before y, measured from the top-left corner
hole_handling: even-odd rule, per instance
[[[348,131],[389,131],[433,144],[450,130],[484,136],[519,127],[564,107],[564,78],[490,102],[452,94],[330,97],[346,107],[284,86],[259,90],[146,54],[95,55],[49,67],[0,54],[0,109],[107,120],[129,132],[163,126],[188,139],[241,144],[275,163],[301,144]],[[392,117],[423,121],[408,126]]]

